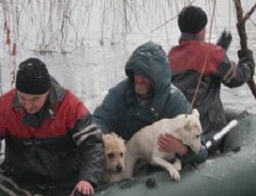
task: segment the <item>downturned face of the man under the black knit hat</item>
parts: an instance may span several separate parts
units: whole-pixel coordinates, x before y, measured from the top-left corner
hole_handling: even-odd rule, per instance
[[[26,112],[29,114],[34,114],[39,112],[40,109],[44,106],[44,102],[49,95],[49,90],[47,90],[42,95],[30,95],[22,93],[19,90],[17,91],[19,101],[22,107],[25,108]]]

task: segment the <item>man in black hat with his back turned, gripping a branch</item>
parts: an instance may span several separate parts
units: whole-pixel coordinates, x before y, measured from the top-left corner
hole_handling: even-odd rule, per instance
[[[219,45],[206,43],[207,14],[199,7],[183,8],[177,25],[181,32],[179,45],[172,47],[168,55],[172,83],[199,110],[208,140],[227,124],[220,100],[221,84],[233,88],[246,83],[254,72],[253,54],[242,56],[238,51],[240,61],[236,65],[225,53],[230,36],[223,34]],[[225,145],[228,150],[229,144]]]

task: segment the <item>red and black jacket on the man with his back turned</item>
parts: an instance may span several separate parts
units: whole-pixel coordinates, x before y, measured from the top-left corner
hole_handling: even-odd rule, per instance
[[[230,62],[221,47],[201,42],[187,33],[182,34],[180,44],[170,50],[168,58],[172,83],[183,91],[190,102],[195,96],[193,107],[201,113],[203,130],[209,132],[223,128],[226,120],[220,100],[221,84],[230,88],[244,84],[252,74],[249,63],[243,61],[236,65]]]

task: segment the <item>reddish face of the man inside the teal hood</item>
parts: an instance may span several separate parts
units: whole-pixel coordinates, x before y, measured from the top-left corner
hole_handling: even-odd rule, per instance
[[[142,74],[134,74],[134,88],[142,99],[147,99],[152,94],[152,84],[148,78],[144,77]]]

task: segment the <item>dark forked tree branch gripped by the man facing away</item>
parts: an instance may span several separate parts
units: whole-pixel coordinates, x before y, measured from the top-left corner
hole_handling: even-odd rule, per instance
[[[243,10],[241,8],[241,0],[234,0],[236,6],[236,18],[237,18],[237,32],[240,37],[240,45],[241,45],[241,54],[247,55],[249,49],[247,47],[247,32],[245,28],[245,22],[250,18],[251,14],[253,14],[254,10],[256,9],[256,3],[253,5],[253,8],[250,9],[247,14],[243,16]],[[253,79],[253,75],[247,81],[249,88],[251,89],[255,99],[256,99],[256,84]]]

